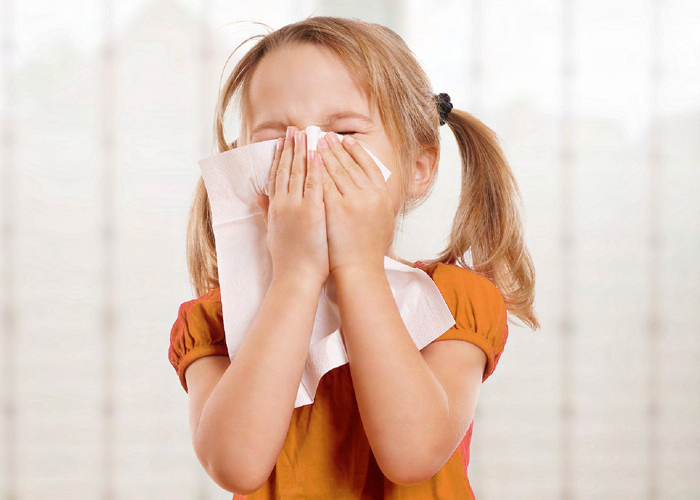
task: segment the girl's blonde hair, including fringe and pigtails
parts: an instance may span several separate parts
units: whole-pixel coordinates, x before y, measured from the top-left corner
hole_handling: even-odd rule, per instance
[[[224,117],[238,95],[241,120],[245,119],[248,85],[265,55],[298,43],[315,44],[333,51],[345,63],[379,113],[399,155],[398,164],[403,166],[397,172],[401,215],[427,199],[437,176],[433,175],[421,196],[411,197],[407,193],[412,176],[406,166],[412,168],[412,160],[421,151],[434,149],[439,155],[438,108],[425,71],[399,35],[359,19],[317,16],[243,43],[257,37],[261,39],[243,55],[219,93],[214,123],[218,152],[237,147],[237,140],[228,143],[224,137]],[[510,314],[533,330],[540,328],[533,308],[535,270],[524,242],[520,192],[498,137],[464,110],[453,107],[445,121],[459,146],[462,188],[447,247],[435,259],[423,262],[456,264],[486,277],[501,291]],[[467,252],[471,266],[465,261]],[[202,178],[190,210],[187,264],[197,296],[219,286],[211,208]]]

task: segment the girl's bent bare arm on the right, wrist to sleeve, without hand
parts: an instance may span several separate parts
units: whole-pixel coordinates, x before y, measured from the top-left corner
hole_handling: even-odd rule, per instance
[[[384,268],[346,269],[334,278],[357,406],[377,464],[392,482],[425,481],[474,418],[486,356],[449,340],[419,351]]]

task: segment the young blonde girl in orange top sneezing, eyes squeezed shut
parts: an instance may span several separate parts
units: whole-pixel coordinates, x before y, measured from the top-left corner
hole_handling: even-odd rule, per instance
[[[229,143],[224,115],[236,95],[240,135]],[[406,262],[394,253],[396,221],[430,194],[445,123],[461,153],[459,207],[437,258]],[[299,130],[308,125],[329,133],[307,158]],[[199,298],[180,306],[168,356],[207,474],[234,499],[473,498],[474,411],[505,347],[506,307],[539,328],[519,192],[493,131],[436,96],[390,29],[312,17],[243,56],[217,105],[216,138],[219,151],[281,139],[270,196],[258,198],[273,278],[233,360],[201,179],[192,206],[187,253]],[[392,171],[387,182],[361,144]],[[422,350],[397,310],[385,255],[431,276],[455,318]],[[331,274],[349,362],[324,375],[313,404],[295,408]]]

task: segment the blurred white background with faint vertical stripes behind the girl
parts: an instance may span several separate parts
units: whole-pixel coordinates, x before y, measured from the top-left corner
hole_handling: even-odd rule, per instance
[[[229,23],[311,14],[399,33],[520,183],[542,330],[511,325],[482,387],[477,499],[700,498],[695,0],[0,2],[0,497],[231,498],[167,359],[187,211],[226,59],[264,32]],[[441,130],[405,258],[456,208]]]

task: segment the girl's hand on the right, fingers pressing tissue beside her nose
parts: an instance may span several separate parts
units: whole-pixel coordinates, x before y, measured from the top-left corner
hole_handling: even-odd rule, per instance
[[[384,269],[384,255],[394,235],[394,208],[382,171],[349,135],[341,143],[333,132],[326,134],[318,153],[324,166],[331,273],[368,265]]]

